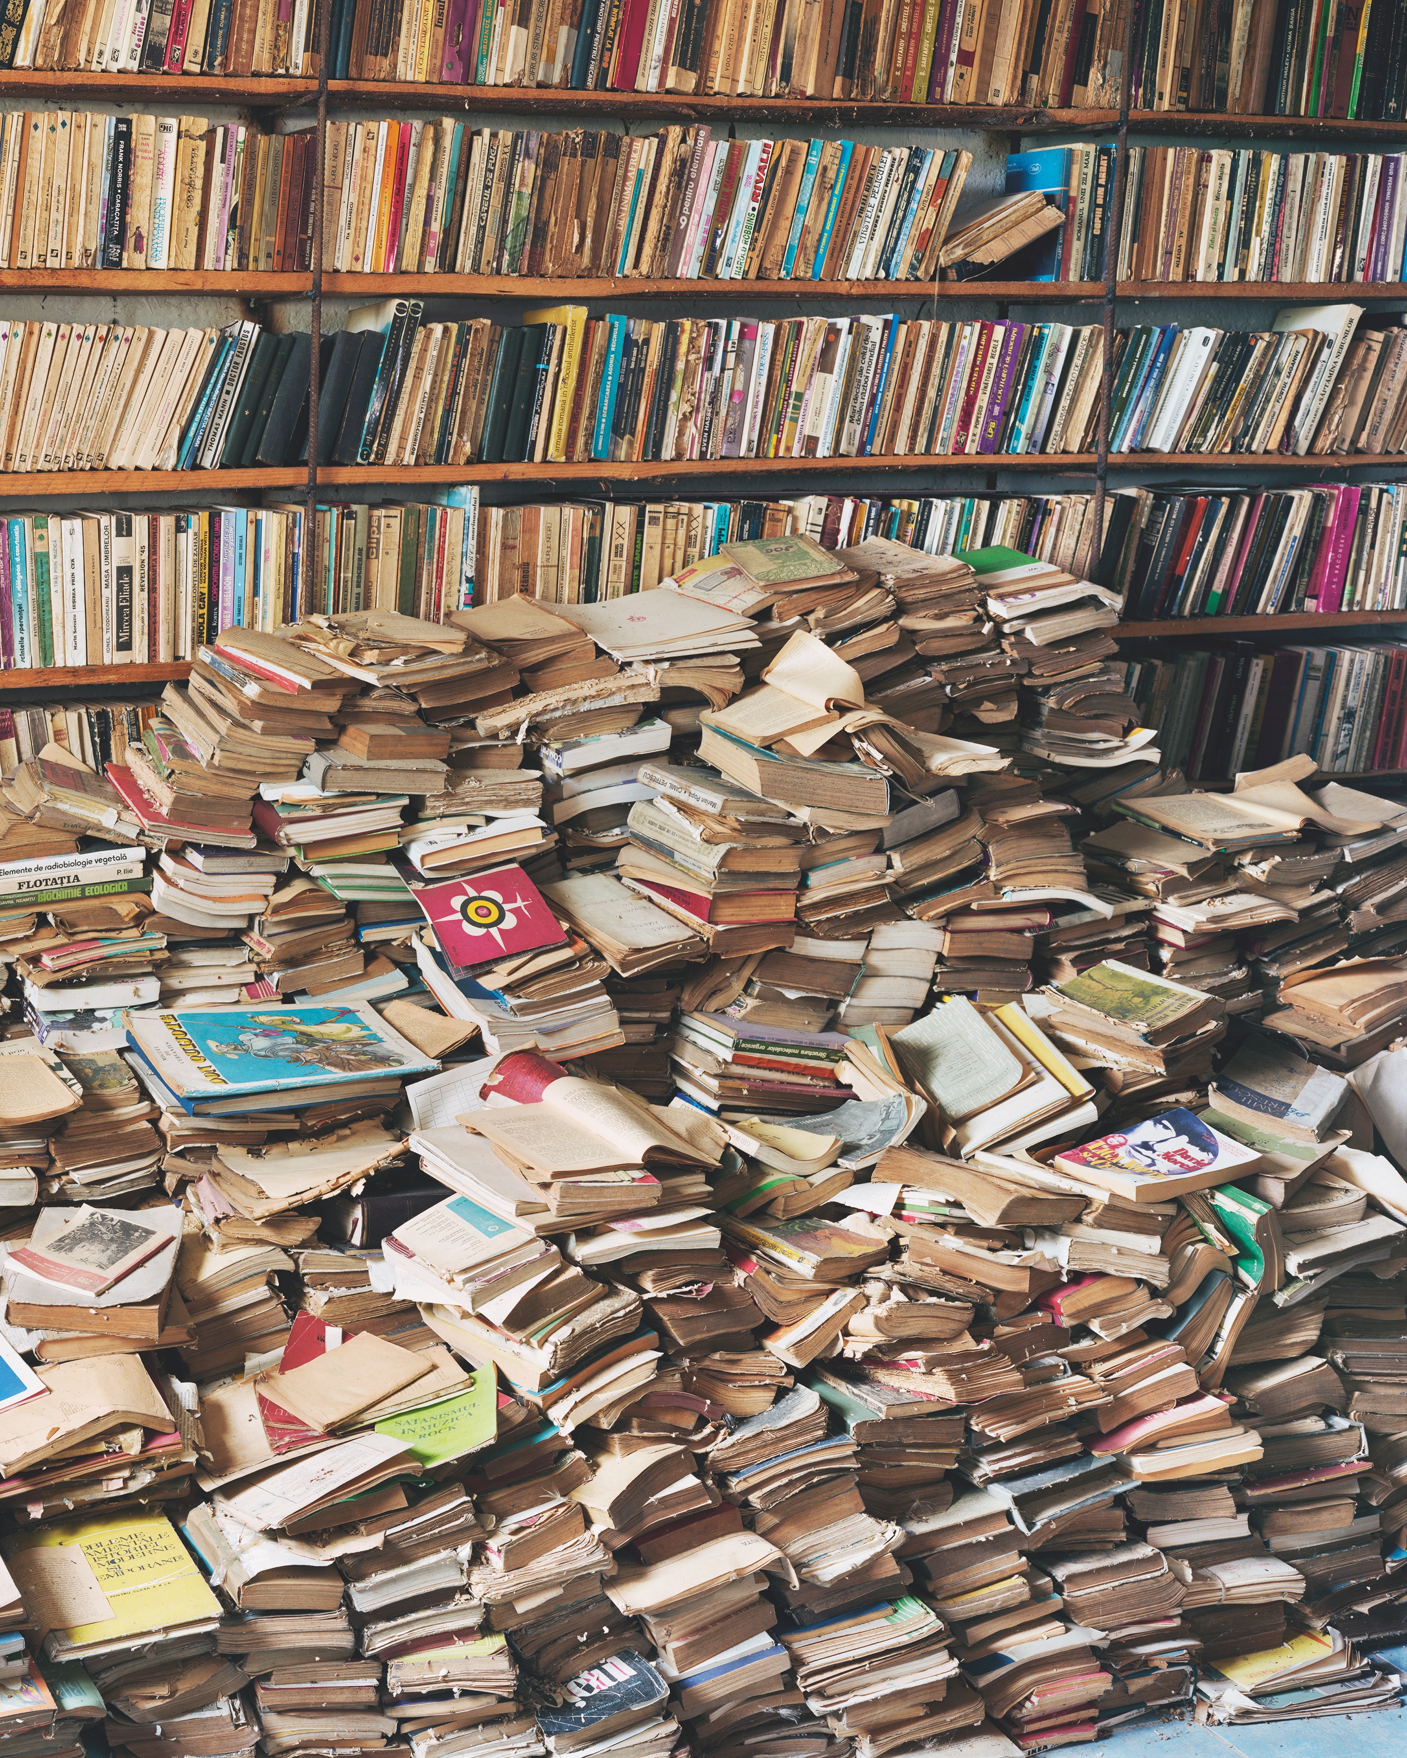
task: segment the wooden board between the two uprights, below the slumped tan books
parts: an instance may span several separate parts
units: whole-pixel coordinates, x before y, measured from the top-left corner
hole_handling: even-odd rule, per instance
[[[601,276],[535,280],[517,274],[346,274],[322,278],[325,295],[415,294],[420,299],[1103,299],[1103,281],[649,281]]]

